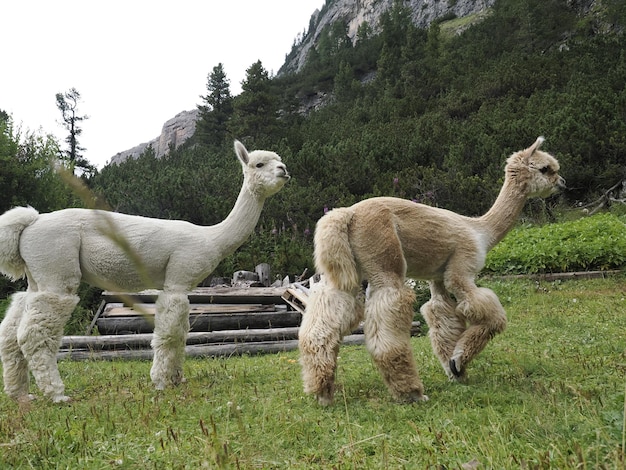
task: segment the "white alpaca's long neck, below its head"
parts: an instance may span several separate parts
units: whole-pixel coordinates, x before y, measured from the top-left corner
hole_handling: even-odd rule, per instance
[[[212,249],[225,257],[243,245],[254,231],[264,203],[265,198],[253,194],[244,183],[228,217],[219,224],[208,227],[212,236]]]

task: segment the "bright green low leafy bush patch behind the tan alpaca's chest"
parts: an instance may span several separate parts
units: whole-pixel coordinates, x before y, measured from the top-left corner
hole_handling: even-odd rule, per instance
[[[626,265],[626,224],[610,214],[513,229],[487,255],[497,274],[619,269]]]

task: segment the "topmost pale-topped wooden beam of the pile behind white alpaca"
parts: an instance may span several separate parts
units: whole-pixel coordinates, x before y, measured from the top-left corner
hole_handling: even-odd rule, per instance
[[[197,287],[189,292],[190,303],[206,304],[282,304],[282,295],[286,287],[248,287],[245,289],[233,289],[232,287]],[[124,302],[132,305],[136,302],[155,303],[161,291],[148,289],[141,292],[102,293],[102,298],[107,302]]]

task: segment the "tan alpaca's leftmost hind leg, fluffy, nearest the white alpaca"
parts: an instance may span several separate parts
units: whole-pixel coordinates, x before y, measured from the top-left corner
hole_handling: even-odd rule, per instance
[[[354,295],[324,287],[309,297],[298,333],[304,392],[330,405],[335,392],[337,353],[343,336],[363,318]]]

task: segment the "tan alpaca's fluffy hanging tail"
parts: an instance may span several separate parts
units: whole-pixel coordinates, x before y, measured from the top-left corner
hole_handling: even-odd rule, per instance
[[[331,286],[353,292],[359,288],[359,273],[350,245],[348,225],[354,212],[349,207],[334,209],[315,228],[315,268]]]

